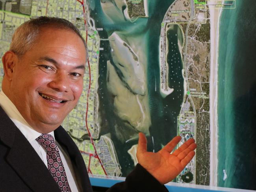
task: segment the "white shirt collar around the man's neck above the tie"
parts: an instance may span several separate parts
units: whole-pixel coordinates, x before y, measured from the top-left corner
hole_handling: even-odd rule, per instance
[[[0,92],[0,106],[4,109],[9,118],[13,121],[13,123],[17,126],[17,128],[21,131],[21,133],[26,137],[26,139],[31,142],[39,137],[42,133],[39,133],[31,127],[28,122],[22,117],[18,109],[11,102],[11,100],[4,94],[1,90]],[[54,137],[54,131],[48,133]]]

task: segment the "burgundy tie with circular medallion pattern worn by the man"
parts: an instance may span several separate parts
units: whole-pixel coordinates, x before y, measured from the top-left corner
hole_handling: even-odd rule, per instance
[[[71,192],[66,172],[59,155],[59,150],[52,135],[42,134],[35,140],[37,140],[37,142],[39,142],[46,149],[48,170],[52,174],[52,177],[56,183],[59,185],[61,191]]]

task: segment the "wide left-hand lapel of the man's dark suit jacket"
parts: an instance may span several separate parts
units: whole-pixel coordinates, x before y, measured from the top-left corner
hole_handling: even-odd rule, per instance
[[[6,161],[33,191],[59,192],[59,187],[28,140],[0,107],[0,139],[9,146]]]

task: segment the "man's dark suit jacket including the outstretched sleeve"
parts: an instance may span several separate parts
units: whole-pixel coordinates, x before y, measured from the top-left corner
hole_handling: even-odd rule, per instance
[[[63,127],[54,131],[63,150],[69,154],[82,191],[92,192],[85,163],[76,144]],[[47,167],[28,140],[0,107],[0,191],[1,192],[59,192]],[[108,192],[167,191],[142,166],[137,164],[126,181],[117,183]]]

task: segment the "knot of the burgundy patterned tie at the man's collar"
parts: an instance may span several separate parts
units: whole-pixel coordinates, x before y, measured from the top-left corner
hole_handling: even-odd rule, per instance
[[[54,138],[50,134],[42,134],[35,140],[37,140],[37,142],[39,142],[49,152],[59,151]]]

